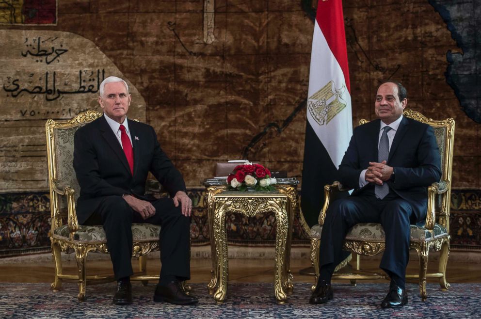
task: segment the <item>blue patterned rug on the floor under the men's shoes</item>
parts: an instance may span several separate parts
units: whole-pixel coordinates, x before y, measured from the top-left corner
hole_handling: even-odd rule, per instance
[[[133,304],[112,305],[115,284],[87,286],[87,298],[77,301],[77,287],[64,284],[52,292],[48,284],[0,284],[0,318],[480,318],[481,284],[453,284],[443,292],[437,284],[428,285],[428,300],[422,302],[417,285],[408,284],[409,303],[401,310],[381,309],[388,283],[334,285],[334,300],[324,305],[307,303],[309,284],[295,284],[289,302],[277,304],[272,284],[231,284],[227,299],[216,304],[205,284],[193,284],[199,304],[178,306],[154,303],[155,285],[133,285]]]

